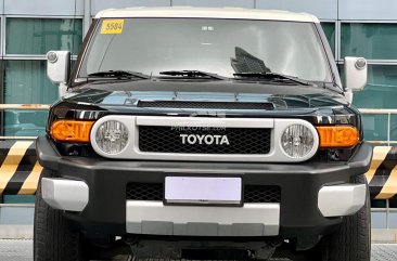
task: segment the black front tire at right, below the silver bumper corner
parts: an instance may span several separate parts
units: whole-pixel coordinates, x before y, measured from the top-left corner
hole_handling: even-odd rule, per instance
[[[322,240],[322,261],[371,260],[371,204],[364,175],[357,175],[353,183],[367,185],[366,205],[354,216],[343,219],[340,229]]]

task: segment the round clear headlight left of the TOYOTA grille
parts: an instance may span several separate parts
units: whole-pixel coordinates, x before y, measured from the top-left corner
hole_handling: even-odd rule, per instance
[[[95,142],[105,154],[118,154],[127,146],[128,129],[117,120],[104,121],[97,130]]]

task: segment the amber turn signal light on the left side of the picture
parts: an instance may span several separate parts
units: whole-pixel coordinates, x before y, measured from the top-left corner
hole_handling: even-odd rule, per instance
[[[51,136],[64,142],[90,142],[94,121],[57,120],[51,126]]]

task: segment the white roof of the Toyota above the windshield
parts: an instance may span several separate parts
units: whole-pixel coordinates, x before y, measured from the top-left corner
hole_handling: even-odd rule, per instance
[[[229,18],[229,19],[272,19],[319,23],[319,19],[306,13],[293,13],[278,10],[240,8],[127,8],[100,11],[95,18],[127,17],[179,17],[179,18]]]

